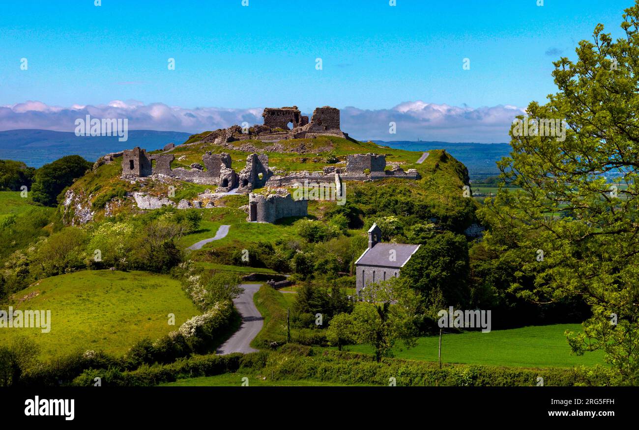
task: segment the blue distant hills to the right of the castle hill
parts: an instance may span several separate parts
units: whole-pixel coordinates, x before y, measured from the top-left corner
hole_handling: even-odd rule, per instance
[[[372,142],[390,146],[391,148],[406,149],[407,151],[427,152],[429,149],[445,149],[450,155],[458,159],[468,168],[470,179],[475,181],[488,176],[499,174],[496,161],[506,157],[512,151],[510,144],[475,144],[450,142],[411,142],[408,140],[396,140],[385,142],[373,140]]]

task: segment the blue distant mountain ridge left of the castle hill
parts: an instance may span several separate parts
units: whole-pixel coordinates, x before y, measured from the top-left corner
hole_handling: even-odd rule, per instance
[[[0,131],[0,159],[17,159],[32,167],[75,154],[96,161],[109,152],[135,146],[153,151],[169,142],[178,145],[189,136],[178,131],[130,130],[128,140],[119,142],[117,136],[76,136],[72,131],[8,130]]]

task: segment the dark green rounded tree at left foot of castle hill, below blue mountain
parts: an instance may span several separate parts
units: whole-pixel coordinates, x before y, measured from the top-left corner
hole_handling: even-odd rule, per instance
[[[82,177],[93,166],[79,155],[68,155],[36,170],[31,198],[45,206],[55,206],[57,197],[73,180]]]

